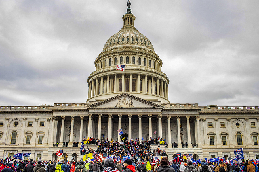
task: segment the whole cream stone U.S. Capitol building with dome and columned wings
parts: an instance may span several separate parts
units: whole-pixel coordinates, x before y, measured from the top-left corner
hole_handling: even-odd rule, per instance
[[[86,103],[0,106],[0,158],[23,152],[49,160],[62,149],[68,158],[78,159],[84,136],[117,140],[117,130],[123,128],[125,138],[133,140],[149,140],[156,131],[155,137],[168,143],[168,148],[160,148],[169,159],[175,152],[192,153],[195,159],[234,157],[237,148],[243,148],[245,158],[259,159],[258,106],[170,103],[169,78],[161,71],[161,58],[135,28],[130,8],[122,19],[123,27],[104,43],[94,62]],[[125,65],[125,72],[116,65]],[[69,142],[68,147],[62,142]],[[79,147],[72,142],[79,142]]]

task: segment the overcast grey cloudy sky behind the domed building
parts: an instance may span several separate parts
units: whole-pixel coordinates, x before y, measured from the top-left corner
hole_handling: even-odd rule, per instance
[[[84,103],[127,0],[1,0],[0,105]],[[259,105],[259,1],[131,0],[171,103]]]

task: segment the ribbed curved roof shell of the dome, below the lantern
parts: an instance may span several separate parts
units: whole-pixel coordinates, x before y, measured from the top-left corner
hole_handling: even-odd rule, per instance
[[[124,28],[111,36],[105,43],[103,51],[117,45],[138,45],[154,51],[150,40],[136,29]]]

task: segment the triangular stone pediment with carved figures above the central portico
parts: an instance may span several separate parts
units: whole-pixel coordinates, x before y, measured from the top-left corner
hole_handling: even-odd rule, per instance
[[[141,99],[139,97],[130,95],[128,93],[123,93],[115,97],[100,101],[89,105],[87,108],[163,108],[161,105],[157,105],[153,102]]]

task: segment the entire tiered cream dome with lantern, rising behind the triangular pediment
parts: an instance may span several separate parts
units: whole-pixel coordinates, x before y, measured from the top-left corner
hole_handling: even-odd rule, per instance
[[[94,61],[96,70],[87,79],[87,102],[129,93],[158,104],[169,103],[169,79],[161,71],[163,62],[151,41],[135,28],[135,18],[128,8],[122,17],[123,27],[106,41]],[[124,65],[125,72],[117,70],[117,65]]]

